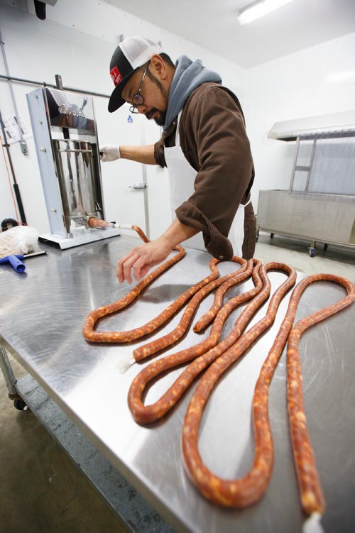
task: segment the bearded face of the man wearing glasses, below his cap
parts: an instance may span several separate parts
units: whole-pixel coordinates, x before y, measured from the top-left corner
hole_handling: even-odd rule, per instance
[[[138,93],[139,87],[141,87],[141,97],[143,97],[143,104],[137,105],[139,113],[146,115],[146,118],[153,119],[158,126],[163,126],[165,123],[166,110],[168,109],[168,91],[165,89],[163,82],[160,80],[159,73],[149,63],[146,77],[142,82],[142,77],[145,67],[140,68],[129,79],[124,90],[122,91],[122,97],[131,105],[133,104],[133,95]],[[152,72],[153,70],[153,72]],[[155,72],[154,72],[155,71]]]

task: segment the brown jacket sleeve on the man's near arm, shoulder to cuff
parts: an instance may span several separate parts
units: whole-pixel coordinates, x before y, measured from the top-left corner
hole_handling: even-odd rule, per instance
[[[176,209],[176,216],[182,224],[203,232],[204,245],[214,257],[230,259],[229,229],[249,192],[253,170],[244,117],[236,101],[220,86],[201,93],[193,105],[187,102],[184,113],[181,143],[191,144],[186,136],[192,131],[199,170],[195,192]]]

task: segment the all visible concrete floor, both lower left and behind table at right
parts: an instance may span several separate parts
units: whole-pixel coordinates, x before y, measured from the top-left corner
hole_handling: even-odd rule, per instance
[[[259,236],[256,257],[305,273],[328,272],[355,282],[354,251]],[[12,358],[16,377],[24,372]],[[120,533],[126,531],[30,411],[17,411],[0,376],[0,533]]]

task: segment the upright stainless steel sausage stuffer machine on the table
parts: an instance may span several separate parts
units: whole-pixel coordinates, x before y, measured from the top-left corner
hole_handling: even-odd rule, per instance
[[[88,224],[105,218],[92,98],[43,87],[27,101],[50,224],[40,239],[71,248],[119,235]]]

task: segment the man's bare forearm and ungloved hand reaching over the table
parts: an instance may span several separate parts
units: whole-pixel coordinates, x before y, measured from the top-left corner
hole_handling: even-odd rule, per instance
[[[186,241],[187,238],[198,232],[196,228],[185,226],[178,219],[175,219],[163,235],[155,241],[136,246],[119,260],[116,270],[119,282],[122,283],[126,280],[131,283],[131,270],[133,270],[134,278],[137,281],[141,280],[154,265],[158,265],[168,257],[174,246]]]

